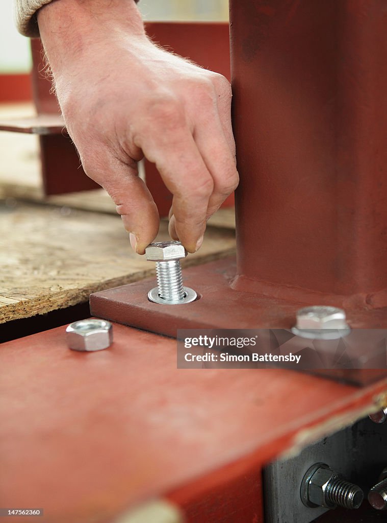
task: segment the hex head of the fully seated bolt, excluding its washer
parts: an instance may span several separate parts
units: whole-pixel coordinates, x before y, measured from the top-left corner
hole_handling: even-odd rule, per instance
[[[337,307],[314,305],[304,307],[297,312],[299,329],[345,329],[348,328],[343,309]]]

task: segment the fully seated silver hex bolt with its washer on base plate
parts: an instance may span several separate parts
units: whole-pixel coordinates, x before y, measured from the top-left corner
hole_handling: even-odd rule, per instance
[[[308,339],[338,339],[350,333],[345,311],[328,305],[313,305],[297,311],[291,332]]]

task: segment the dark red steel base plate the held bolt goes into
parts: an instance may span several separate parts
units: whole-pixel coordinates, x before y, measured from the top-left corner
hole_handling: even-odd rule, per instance
[[[224,258],[183,271],[184,285],[199,296],[192,303],[152,303],[147,294],[155,281],[143,280],[91,294],[90,309],[104,319],[172,337],[179,328],[290,328],[295,324],[296,312],[303,304],[234,290],[230,283],[235,275],[236,260]],[[387,308],[348,310],[347,316],[354,328],[387,327]],[[368,382],[369,375],[367,370],[321,372],[359,384]],[[374,379],[375,371],[371,374]]]

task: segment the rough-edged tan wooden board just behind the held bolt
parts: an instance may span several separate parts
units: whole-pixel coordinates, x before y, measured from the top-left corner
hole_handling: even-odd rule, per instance
[[[168,240],[166,222],[158,240]],[[234,251],[234,234],[209,227],[184,265]],[[133,253],[118,215],[5,200],[0,205],[0,323],[84,302],[91,292],[154,274]]]

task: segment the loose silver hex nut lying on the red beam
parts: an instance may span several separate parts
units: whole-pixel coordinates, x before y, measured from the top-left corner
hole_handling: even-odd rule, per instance
[[[73,350],[94,352],[107,349],[113,343],[113,326],[95,318],[80,320],[68,325],[66,339]]]

